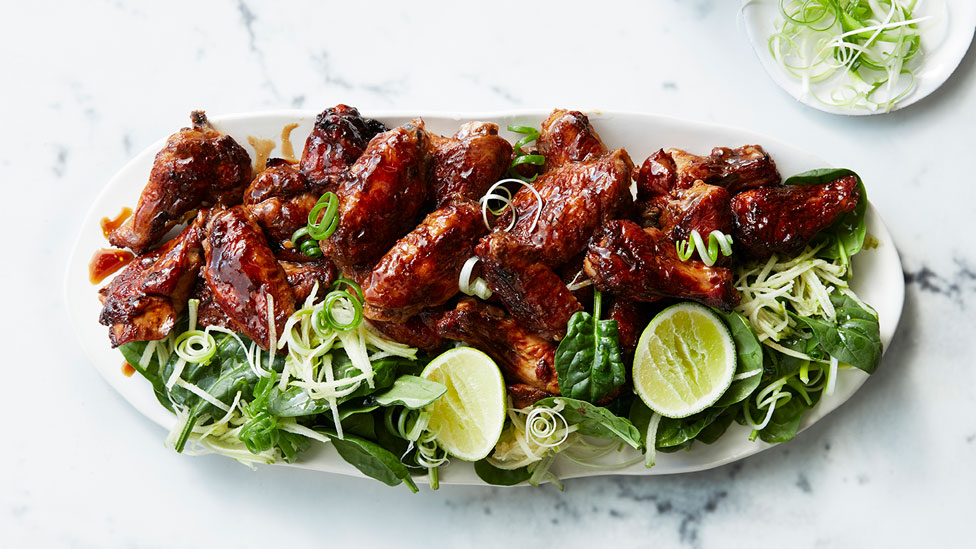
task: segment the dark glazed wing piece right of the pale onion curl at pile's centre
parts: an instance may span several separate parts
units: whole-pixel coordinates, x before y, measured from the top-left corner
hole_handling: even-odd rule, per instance
[[[505,233],[485,238],[475,250],[482,277],[505,308],[525,328],[556,341],[583,307],[551,267],[525,253]]]

